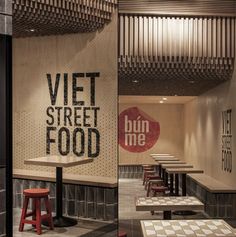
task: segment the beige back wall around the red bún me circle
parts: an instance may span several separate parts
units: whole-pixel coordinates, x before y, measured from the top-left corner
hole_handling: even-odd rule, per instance
[[[151,153],[171,153],[183,157],[184,117],[183,105],[179,104],[119,104],[119,113],[130,107],[138,107],[160,123],[160,136],[156,144],[141,153],[132,153],[119,146],[120,164],[153,163]]]

